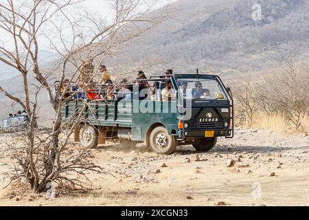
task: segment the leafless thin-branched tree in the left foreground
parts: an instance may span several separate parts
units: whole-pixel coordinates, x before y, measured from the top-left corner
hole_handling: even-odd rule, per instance
[[[62,175],[68,171],[74,170],[78,174],[84,174],[85,170],[102,172],[102,168],[89,165],[89,157],[83,151],[78,151],[78,155],[84,155],[78,158],[79,162],[65,162],[66,156],[70,155],[67,148],[69,137],[78,126],[82,111],[76,118],[61,123],[62,104],[69,87],[55,93],[51,78],[60,78],[60,85],[66,78],[73,82],[80,77],[84,61],[92,57],[100,58],[99,63],[104,62],[124,45],[162,21],[166,15],[151,12],[156,2],[113,0],[111,21],[81,10],[82,1],[78,0],[23,0],[18,3],[8,0],[0,3],[1,31],[10,37],[14,45],[10,47],[10,44],[4,42],[0,45],[0,62],[19,72],[23,79],[23,97],[14,96],[3,87],[0,87],[0,92],[26,109],[30,118],[24,150],[16,154],[18,157],[14,157],[20,158],[19,173],[14,180],[21,181],[24,178],[34,192],[43,192],[49,181],[82,186],[77,179]],[[72,14],[69,14],[70,11]],[[42,42],[46,43],[46,39],[51,45],[50,49],[61,57],[49,69],[43,69],[39,61],[39,54],[44,46]],[[30,82],[30,77],[35,78],[34,83]],[[94,78],[95,74],[91,76],[91,80]],[[52,132],[44,139],[38,133],[36,116],[40,107],[38,94],[41,91],[47,92],[49,103],[56,113]],[[84,102],[84,108],[86,105],[87,102]],[[61,133],[65,133],[65,137],[60,138]]]

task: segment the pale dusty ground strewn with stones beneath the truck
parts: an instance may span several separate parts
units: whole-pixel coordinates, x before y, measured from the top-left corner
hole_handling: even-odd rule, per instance
[[[57,199],[2,196],[0,206],[309,205],[309,137],[238,129],[233,140],[220,139],[209,153],[185,146],[162,156],[113,144],[93,151],[96,162],[115,175],[91,175],[95,190]],[[227,167],[229,159],[236,164]],[[0,158],[0,173],[7,167]]]

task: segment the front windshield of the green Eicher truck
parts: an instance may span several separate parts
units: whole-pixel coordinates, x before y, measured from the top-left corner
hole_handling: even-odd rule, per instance
[[[200,100],[227,100],[217,80],[209,78],[181,78],[177,80],[183,98]]]

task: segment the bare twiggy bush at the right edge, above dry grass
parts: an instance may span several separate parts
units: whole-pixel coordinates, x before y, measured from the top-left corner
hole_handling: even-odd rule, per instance
[[[266,76],[260,85],[261,98],[297,130],[302,129],[302,120],[309,111],[308,74],[308,67],[290,60],[282,72]]]

